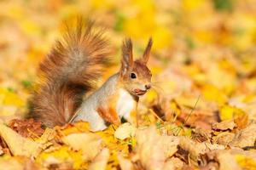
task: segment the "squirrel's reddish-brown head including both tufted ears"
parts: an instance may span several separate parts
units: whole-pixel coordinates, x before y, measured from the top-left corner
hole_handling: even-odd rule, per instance
[[[133,61],[132,42],[126,39],[123,42],[121,68],[119,78],[124,88],[132,95],[143,95],[151,88],[151,71],[147,67],[152,39],[148,41],[143,57]]]

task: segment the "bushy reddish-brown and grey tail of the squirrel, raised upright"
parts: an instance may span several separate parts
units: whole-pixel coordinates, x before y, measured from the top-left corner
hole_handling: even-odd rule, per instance
[[[68,26],[67,26],[68,27]],[[47,127],[69,121],[84,93],[94,88],[109,54],[108,42],[92,23],[67,28],[39,68],[41,82],[33,94],[30,116]]]

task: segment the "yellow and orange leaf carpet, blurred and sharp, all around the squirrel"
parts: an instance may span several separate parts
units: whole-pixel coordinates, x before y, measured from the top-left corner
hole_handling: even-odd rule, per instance
[[[1,169],[256,169],[254,0],[0,2]],[[118,71],[154,39],[153,88],[138,124],[91,133],[86,122],[43,129],[24,120],[38,63],[77,16],[106,28]],[[125,105],[125,104],[124,104]],[[4,168],[3,168],[4,167]]]

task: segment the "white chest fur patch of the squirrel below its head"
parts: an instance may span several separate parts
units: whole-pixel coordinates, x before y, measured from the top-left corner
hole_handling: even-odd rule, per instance
[[[119,89],[119,99],[116,105],[116,111],[119,117],[124,116],[127,121],[130,120],[130,113],[136,107],[136,101],[125,89]]]

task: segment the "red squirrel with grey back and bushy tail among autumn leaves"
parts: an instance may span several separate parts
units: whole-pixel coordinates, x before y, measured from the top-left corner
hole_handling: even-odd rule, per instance
[[[68,122],[89,122],[95,132],[121,118],[137,123],[139,97],[151,88],[151,71],[147,63],[153,41],[140,59],[133,60],[131,38],[122,45],[119,72],[109,77],[101,88],[83,99],[95,88],[108,60],[108,41],[104,31],[96,31],[93,23],[78,22],[74,29],[67,27],[62,41],[39,65],[39,88],[32,94],[29,116],[46,127],[62,126]],[[64,41],[63,41],[64,40]]]

